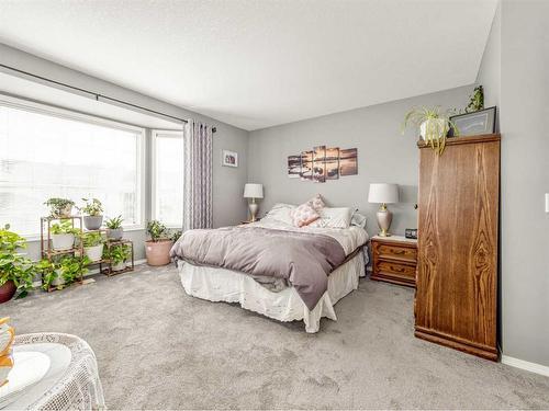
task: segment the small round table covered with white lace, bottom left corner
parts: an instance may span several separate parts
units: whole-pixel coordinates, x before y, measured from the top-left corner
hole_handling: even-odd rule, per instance
[[[61,333],[36,333],[15,336],[13,345],[15,365],[18,357],[25,358],[33,354],[47,358],[48,366],[41,370],[34,384],[5,396],[7,387],[18,385],[10,380],[0,388],[4,398],[0,397],[3,410],[68,410],[68,409],[104,409],[103,388],[99,379],[96,355],[82,339]],[[20,364],[23,366],[23,364]],[[26,376],[27,377],[27,376]],[[3,391],[2,391],[3,390]]]

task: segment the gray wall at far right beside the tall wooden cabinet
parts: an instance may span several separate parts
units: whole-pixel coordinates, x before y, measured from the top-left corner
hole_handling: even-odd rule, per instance
[[[503,353],[549,366],[549,2],[500,8],[479,81],[501,88]]]

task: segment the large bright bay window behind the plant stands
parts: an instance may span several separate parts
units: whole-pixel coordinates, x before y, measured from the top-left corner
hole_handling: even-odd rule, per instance
[[[40,233],[49,197],[97,197],[143,227],[144,129],[0,96],[0,225]]]

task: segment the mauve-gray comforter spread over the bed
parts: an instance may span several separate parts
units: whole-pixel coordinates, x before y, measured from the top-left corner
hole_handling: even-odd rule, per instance
[[[240,226],[186,231],[170,256],[284,278],[312,310],[327,289],[328,274],[345,261],[345,251],[325,235]]]

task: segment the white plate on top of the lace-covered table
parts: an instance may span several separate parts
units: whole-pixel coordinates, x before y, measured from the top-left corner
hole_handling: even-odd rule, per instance
[[[16,400],[19,395],[38,383],[49,369],[49,357],[36,351],[14,352],[13,368],[8,375],[8,384],[0,387],[0,408]]]

